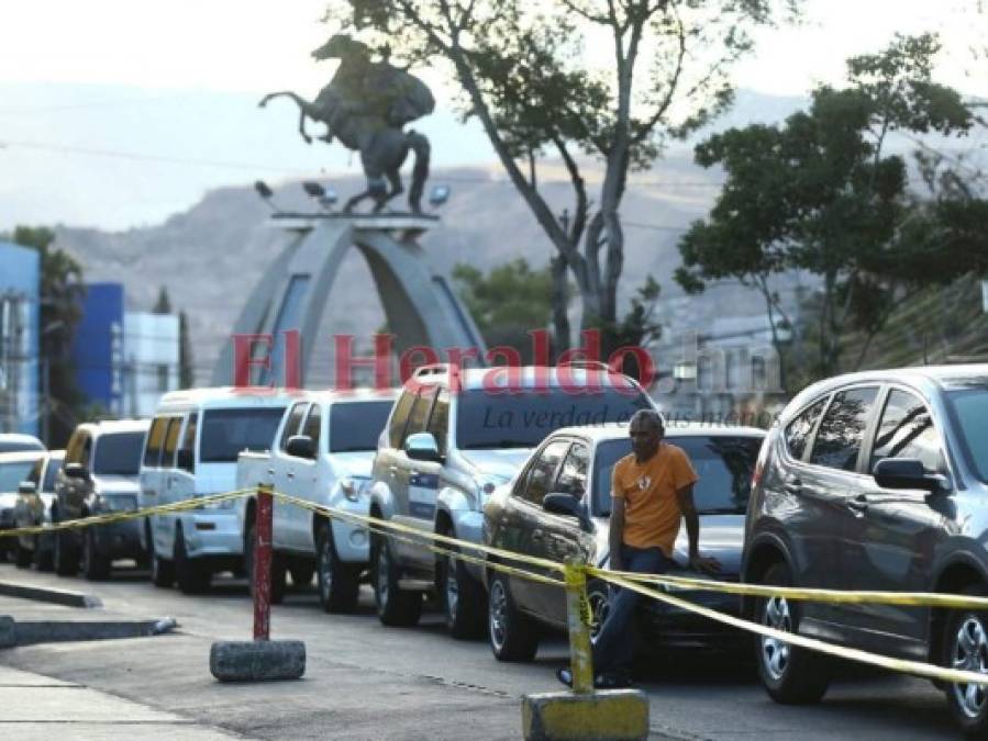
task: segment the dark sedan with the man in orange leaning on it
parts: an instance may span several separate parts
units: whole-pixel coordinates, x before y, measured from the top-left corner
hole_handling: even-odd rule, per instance
[[[700,479],[693,499],[700,517],[700,550],[720,561],[718,579],[736,582],[744,538],[744,513],[751,476],[765,431],[754,427],[677,423],[665,442],[681,448]],[[568,427],[556,430],[532,453],[519,474],[499,487],[484,507],[484,542],[501,550],[543,560],[576,558],[600,569],[610,562],[611,473],[631,453],[626,424]],[[688,569],[686,529],[676,540],[674,575],[708,579]],[[504,563],[558,579],[557,572],[488,555]],[[488,637],[497,659],[531,661],[545,628],[565,630],[566,596],[562,587],[493,568],[485,571],[488,590]],[[593,579],[587,587],[596,637],[607,616],[608,586]],[[719,592],[696,592],[687,598],[728,615],[741,613],[741,600]],[[640,614],[650,648],[723,649],[737,642],[736,631],[654,599]]]

